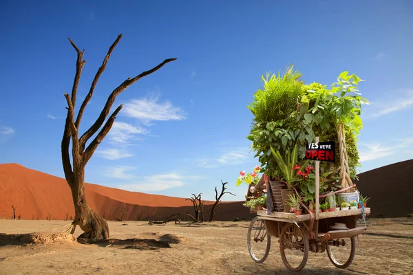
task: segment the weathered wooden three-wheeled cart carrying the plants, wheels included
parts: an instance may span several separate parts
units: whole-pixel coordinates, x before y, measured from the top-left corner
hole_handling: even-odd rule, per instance
[[[316,142],[319,142],[318,137]],[[356,236],[367,230],[366,226],[357,227],[357,219],[363,214],[370,214],[370,208],[361,206],[361,209],[319,212],[319,161],[315,164],[313,219],[310,214],[266,214],[266,211],[258,210],[257,217],[249,225],[247,241],[249,253],[256,263],[263,263],[268,256],[271,236],[279,238],[279,252],[284,265],[290,271],[303,270],[309,252],[326,251],[332,264],[338,268],[346,268],[352,263],[356,253]],[[348,177],[345,175],[343,178]],[[337,230],[333,226],[335,223],[345,224],[347,229]]]

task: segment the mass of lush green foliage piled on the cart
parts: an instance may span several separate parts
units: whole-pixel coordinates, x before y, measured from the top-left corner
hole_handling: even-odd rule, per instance
[[[357,88],[363,80],[342,72],[337,82],[327,87],[321,83],[306,85],[300,78],[301,73],[293,66],[287,67],[284,74],[262,76],[264,85],[248,105],[254,115],[248,140],[253,142],[252,149],[260,161],[261,172],[271,179],[298,181],[293,175],[293,166],[301,164],[297,170],[297,175],[301,175],[302,169],[311,164],[299,160],[304,159],[307,144],[315,142],[315,137],[319,136],[320,141],[335,141],[335,148],[339,148],[337,126],[343,124],[350,177],[356,178],[360,166],[357,136],[363,128],[361,105],[369,104]],[[338,149],[335,157],[335,163],[321,162],[321,191],[337,188]],[[314,174],[307,173],[306,181],[307,184],[300,181],[300,188],[312,200]]]

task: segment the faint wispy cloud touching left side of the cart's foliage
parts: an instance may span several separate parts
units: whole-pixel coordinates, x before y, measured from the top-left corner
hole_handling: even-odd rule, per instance
[[[219,157],[204,157],[198,159],[198,166],[202,168],[217,168],[222,165],[242,164],[248,161],[248,153],[244,149],[225,151]]]

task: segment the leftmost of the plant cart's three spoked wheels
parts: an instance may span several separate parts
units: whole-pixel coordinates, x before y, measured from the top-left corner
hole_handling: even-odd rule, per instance
[[[248,251],[255,263],[263,263],[270,252],[271,237],[268,235],[265,223],[255,217],[248,228]]]

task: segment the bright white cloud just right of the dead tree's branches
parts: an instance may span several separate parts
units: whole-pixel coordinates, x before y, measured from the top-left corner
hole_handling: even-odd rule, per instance
[[[125,104],[121,113],[129,118],[138,118],[144,124],[151,125],[151,121],[183,120],[183,111],[174,107],[171,102],[158,103],[159,96],[153,98],[134,99]]]

